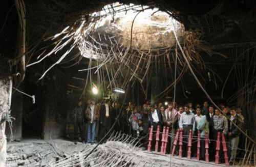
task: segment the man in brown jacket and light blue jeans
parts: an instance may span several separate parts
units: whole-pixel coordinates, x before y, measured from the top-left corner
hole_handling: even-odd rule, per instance
[[[86,109],[87,142],[91,144],[96,143],[96,122],[99,120],[99,106],[95,105],[95,101],[95,98],[92,98]]]

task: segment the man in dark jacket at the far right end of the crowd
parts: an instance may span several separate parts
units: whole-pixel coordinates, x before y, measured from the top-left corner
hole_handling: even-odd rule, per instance
[[[240,121],[240,117],[237,115],[237,110],[234,107],[230,109],[230,116],[231,116],[230,120],[233,123],[230,122],[229,128],[228,128],[229,145],[230,145],[229,148],[231,148],[229,163],[232,164],[236,160],[238,143],[239,143],[239,135],[240,135],[240,130],[235,125],[241,128],[241,121]]]

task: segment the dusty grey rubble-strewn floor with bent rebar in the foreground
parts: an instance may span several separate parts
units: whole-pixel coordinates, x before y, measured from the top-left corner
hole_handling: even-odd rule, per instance
[[[84,160],[94,146],[96,145],[82,143],[74,145],[73,142],[65,140],[12,142],[7,145],[7,166],[216,166],[214,163],[178,157],[172,157],[170,165],[169,155],[147,153],[131,144],[117,141],[99,145]]]

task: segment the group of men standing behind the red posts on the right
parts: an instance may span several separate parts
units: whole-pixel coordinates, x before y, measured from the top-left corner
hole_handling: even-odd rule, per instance
[[[194,136],[197,136],[198,131],[200,131],[201,159],[205,158],[204,142],[205,133],[207,131],[209,134],[209,154],[211,160],[214,160],[216,154],[217,134],[218,132],[224,133],[226,140],[228,141],[229,162],[232,163],[236,160],[240,129],[243,127],[244,122],[243,116],[239,113],[238,108],[227,108],[228,107],[223,107],[223,112],[221,112],[217,108],[214,109],[212,105],[208,106],[208,102],[204,102],[203,108],[197,106],[196,110],[193,109],[191,104],[180,106],[178,108],[176,103],[169,103],[166,109],[161,104],[160,106],[151,104],[149,120],[150,125],[153,125],[154,127],[154,131],[157,130],[158,125],[160,126],[160,131],[163,126],[168,126],[171,129],[170,132],[172,132],[172,134],[175,134],[178,129],[183,131],[183,156],[186,156],[187,153],[188,135],[190,130],[193,131]],[[152,147],[154,147],[154,143],[152,144]],[[197,146],[195,145],[193,147],[196,148]],[[167,148],[167,153],[168,152],[169,150]],[[193,153],[194,156],[196,156],[196,152],[194,151]],[[221,161],[224,161],[223,157],[223,153],[220,151]]]

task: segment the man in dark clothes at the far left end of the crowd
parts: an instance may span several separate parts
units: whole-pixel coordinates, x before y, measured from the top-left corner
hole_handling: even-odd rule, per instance
[[[74,122],[74,138],[75,144],[78,141],[78,129],[80,132],[80,138],[84,142],[84,107],[82,106],[82,101],[77,102],[77,106],[73,110],[73,122]]]

